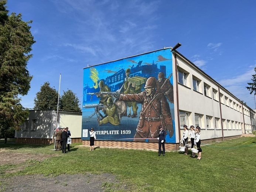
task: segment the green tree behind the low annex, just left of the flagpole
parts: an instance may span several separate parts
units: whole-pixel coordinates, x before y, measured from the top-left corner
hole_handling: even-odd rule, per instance
[[[34,110],[57,110],[58,92],[50,87],[49,82],[45,82],[41,86],[40,92],[36,93],[34,102]]]

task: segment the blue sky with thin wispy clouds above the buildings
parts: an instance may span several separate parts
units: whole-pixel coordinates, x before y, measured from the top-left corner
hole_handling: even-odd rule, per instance
[[[34,78],[24,107],[44,82],[82,101],[83,68],[174,47],[255,109],[245,88],[256,66],[255,0],[8,0],[8,10],[33,20]]]

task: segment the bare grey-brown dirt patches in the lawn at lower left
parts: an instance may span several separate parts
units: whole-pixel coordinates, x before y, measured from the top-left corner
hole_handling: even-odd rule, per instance
[[[58,154],[24,154],[10,153],[6,150],[0,150],[0,165],[20,164],[27,160],[42,161],[45,158],[58,156]],[[25,165],[9,169],[5,173],[22,170]],[[3,173],[2,173],[3,174]],[[59,175],[56,177],[45,177],[43,175],[25,175],[0,178],[0,192],[96,192],[96,191],[130,191],[129,187],[116,179],[112,174],[75,174]]]

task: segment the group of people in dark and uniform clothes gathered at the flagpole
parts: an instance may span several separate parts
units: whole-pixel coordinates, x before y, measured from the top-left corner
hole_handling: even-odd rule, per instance
[[[68,141],[68,137],[71,136],[68,127],[60,128],[58,127],[58,131],[54,134],[55,136],[55,151],[62,150],[63,153],[66,153],[66,144]],[[70,146],[68,144],[68,151],[70,151]]]

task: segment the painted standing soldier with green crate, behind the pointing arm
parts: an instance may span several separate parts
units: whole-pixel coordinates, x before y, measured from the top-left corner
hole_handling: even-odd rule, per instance
[[[131,70],[129,68],[126,69],[125,75],[126,78],[124,78],[124,94],[132,94],[132,93],[140,93],[142,86],[137,86],[135,83],[130,82],[128,79],[130,77]],[[129,108],[129,114],[127,117],[131,116],[131,108],[133,110],[132,118],[137,116],[137,110],[138,106],[136,101],[127,102],[128,108]]]

